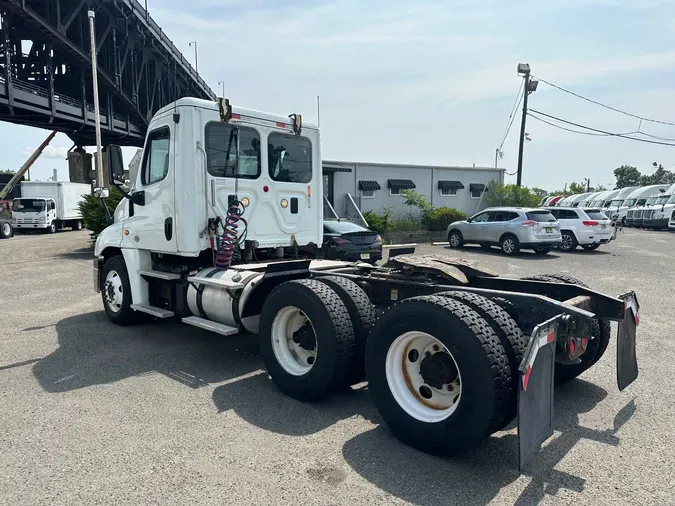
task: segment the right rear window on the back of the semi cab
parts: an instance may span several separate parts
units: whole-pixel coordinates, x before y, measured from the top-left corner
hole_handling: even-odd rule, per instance
[[[312,144],[306,137],[272,132],[267,137],[267,159],[274,181],[309,183],[312,180]]]

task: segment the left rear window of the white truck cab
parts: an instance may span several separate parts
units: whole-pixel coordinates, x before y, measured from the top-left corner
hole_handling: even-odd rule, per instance
[[[237,129],[212,121],[206,124],[206,170],[213,177],[256,179],[260,176],[260,135],[249,127],[239,127],[239,167],[237,167]]]

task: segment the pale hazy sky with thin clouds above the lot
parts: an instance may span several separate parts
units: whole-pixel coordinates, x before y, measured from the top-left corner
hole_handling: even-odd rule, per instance
[[[326,159],[491,166],[521,79],[532,73],[634,114],[675,123],[673,0],[148,0],[150,14],[235,104],[316,120]],[[543,83],[530,107],[631,132],[638,120]],[[519,113],[518,113],[519,114]],[[520,116],[500,166],[517,165]],[[675,138],[675,127],[644,123]],[[524,184],[549,190],[590,177],[611,185],[621,164],[653,171],[675,147],[582,136],[528,118]],[[21,165],[47,131],[0,124],[0,168]],[[66,179],[59,135],[33,178]],[[128,162],[133,150],[127,150]],[[515,181],[515,176],[507,177]]]

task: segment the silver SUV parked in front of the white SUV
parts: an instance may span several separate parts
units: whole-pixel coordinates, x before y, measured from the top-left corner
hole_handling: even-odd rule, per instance
[[[561,240],[560,225],[547,209],[492,207],[448,227],[452,248],[465,244],[480,244],[484,249],[499,246],[506,255],[516,255],[521,249],[545,255]]]

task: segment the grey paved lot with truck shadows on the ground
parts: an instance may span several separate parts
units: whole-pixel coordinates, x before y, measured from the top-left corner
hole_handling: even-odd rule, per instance
[[[318,404],[281,395],[255,339],[109,324],[87,240],[0,241],[0,503],[675,503],[675,234],[628,230],[546,257],[464,252],[513,276],[634,288],[642,304],[637,382],[617,391],[610,346],[556,391],[555,436],[523,475],[515,431],[431,457],[380,425],[365,388]]]

